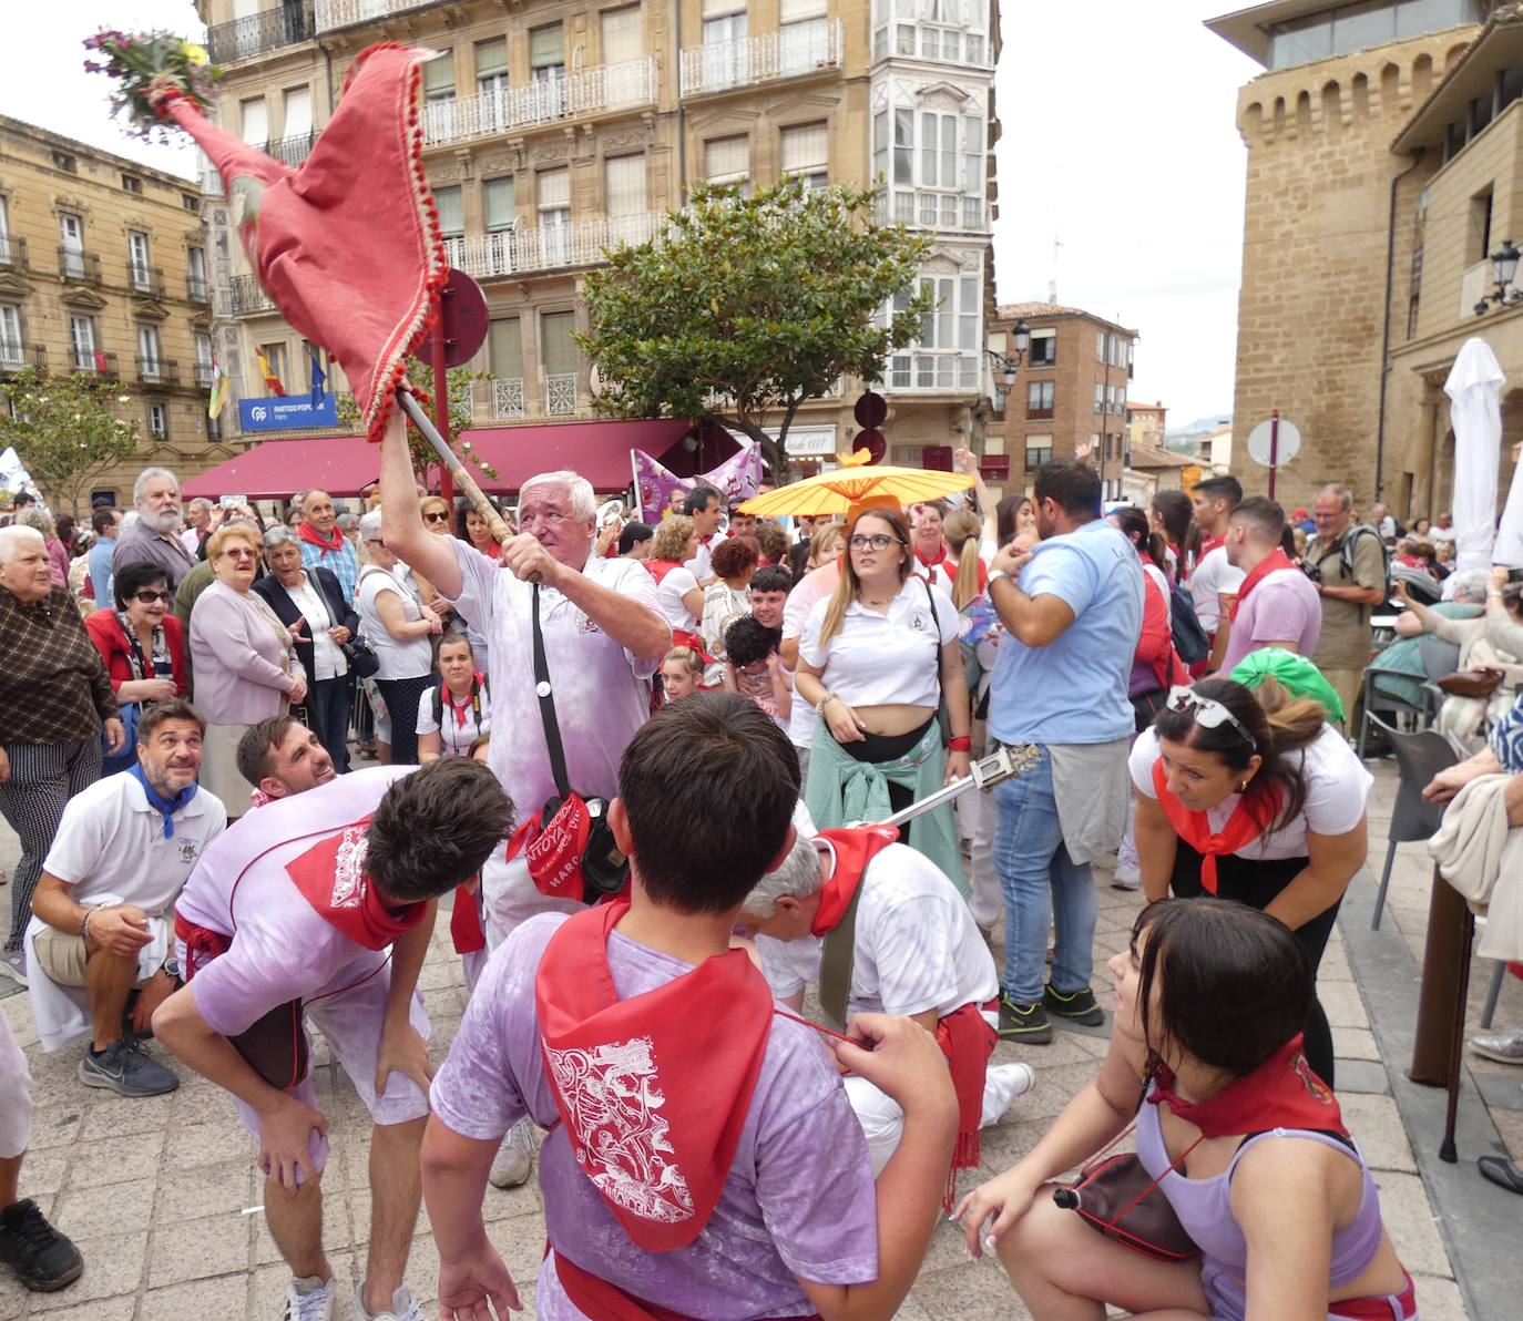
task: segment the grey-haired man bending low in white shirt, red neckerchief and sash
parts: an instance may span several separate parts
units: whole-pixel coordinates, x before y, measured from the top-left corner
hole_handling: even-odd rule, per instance
[[[800,836],[752,887],[740,925],[772,994],[792,1011],[816,985],[836,1026],[854,1014],[896,1014],[937,1038],[958,1094],[955,1176],[978,1164],[978,1131],[998,1123],[1034,1074],[1025,1064],[988,1065],[999,1026],[995,959],[956,887],[896,839],[888,826]],[[903,1111],[864,1077],[845,1087],[876,1176],[899,1146]]]

